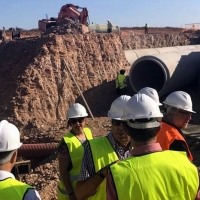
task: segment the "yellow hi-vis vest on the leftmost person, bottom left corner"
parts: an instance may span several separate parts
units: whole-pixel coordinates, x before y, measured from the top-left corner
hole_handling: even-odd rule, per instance
[[[12,178],[1,180],[0,199],[22,200],[28,189],[33,189],[33,187]]]

